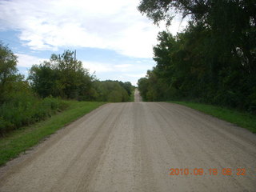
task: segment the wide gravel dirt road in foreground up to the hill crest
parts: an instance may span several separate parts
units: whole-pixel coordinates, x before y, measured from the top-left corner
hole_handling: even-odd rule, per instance
[[[163,102],[107,104],[15,161],[0,191],[256,191],[254,134]]]

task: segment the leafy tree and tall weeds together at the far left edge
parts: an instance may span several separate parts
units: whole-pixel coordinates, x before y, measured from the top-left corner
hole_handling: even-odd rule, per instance
[[[17,57],[0,43],[0,134],[49,117],[65,105],[58,98],[38,98],[18,74]]]

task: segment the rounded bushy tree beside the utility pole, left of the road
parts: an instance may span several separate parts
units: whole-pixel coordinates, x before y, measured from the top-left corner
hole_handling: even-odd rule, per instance
[[[34,91],[43,98],[52,95],[89,100],[93,78],[81,61],[74,61],[73,54],[70,50],[52,54],[50,62],[32,66],[28,79]]]

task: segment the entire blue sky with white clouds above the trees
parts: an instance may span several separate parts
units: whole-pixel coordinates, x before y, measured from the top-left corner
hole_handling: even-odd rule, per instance
[[[164,25],[138,11],[139,0],[0,0],[0,41],[18,56],[19,73],[76,50],[77,59],[100,80],[137,85],[156,63],[153,46]],[[184,29],[174,18],[168,30]]]

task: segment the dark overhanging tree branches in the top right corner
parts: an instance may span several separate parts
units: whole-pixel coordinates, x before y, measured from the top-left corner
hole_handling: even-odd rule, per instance
[[[185,18],[190,15],[194,25],[202,23],[209,28],[222,59],[229,59],[230,54],[240,58],[244,70],[253,74],[256,71],[256,3],[251,0],[241,1],[178,1],[178,0],[142,0],[138,9],[153,19],[154,23],[166,21],[170,24],[174,11]],[[238,51],[240,50],[240,51]]]

